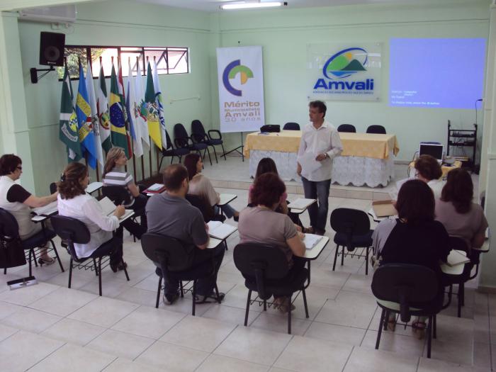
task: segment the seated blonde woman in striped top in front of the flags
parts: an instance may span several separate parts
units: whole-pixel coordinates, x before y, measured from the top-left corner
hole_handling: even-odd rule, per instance
[[[138,239],[147,231],[147,217],[145,205],[147,197],[140,193],[140,188],[136,186],[133,176],[125,171],[125,164],[128,158],[122,147],[112,147],[107,153],[105,167],[103,167],[103,186],[121,186],[127,191],[128,198],[123,201],[127,209],[140,212],[141,225],[131,219],[125,220],[123,226]]]

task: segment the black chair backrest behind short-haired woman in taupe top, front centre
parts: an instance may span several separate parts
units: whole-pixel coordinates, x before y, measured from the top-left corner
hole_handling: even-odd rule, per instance
[[[263,300],[271,296],[265,290],[265,281],[283,278],[289,271],[288,259],[282,249],[266,244],[237,244],[232,257],[244,276],[255,278],[257,292]]]

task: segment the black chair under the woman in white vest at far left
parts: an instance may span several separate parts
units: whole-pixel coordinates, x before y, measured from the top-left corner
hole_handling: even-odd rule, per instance
[[[50,244],[52,244],[52,248],[49,249],[47,252],[53,251],[55,253],[57,261],[60,265],[60,270],[64,272],[64,266],[62,266],[59,253],[57,252],[57,248],[55,247],[55,244],[52,240],[54,237],[55,232],[43,228],[43,230],[37,232],[35,235],[21,240],[21,237],[19,236],[19,225],[16,218],[8,210],[0,208],[0,245],[6,245],[14,241],[18,241],[20,243],[21,247],[24,249],[25,254],[28,254],[26,260],[29,263],[29,276],[32,275],[33,270],[31,267],[31,259],[33,259],[33,261],[35,262],[35,266],[38,266],[38,262],[36,260],[37,252],[35,249],[44,247],[47,242],[50,242]],[[7,274],[6,268],[4,269],[4,274]]]

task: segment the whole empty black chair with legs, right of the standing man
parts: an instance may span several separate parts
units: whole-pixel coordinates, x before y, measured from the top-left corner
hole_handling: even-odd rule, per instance
[[[351,208],[337,208],[331,213],[331,227],[336,232],[334,243],[334,264],[332,271],[336,269],[336,261],[339,256],[339,247],[342,247],[341,265],[344,264],[345,248],[348,252],[354,252],[356,248],[363,248],[360,254],[347,253],[351,257],[365,257],[365,274],[368,274],[368,249],[372,246],[371,221],[363,210]],[[365,255],[363,255],[365,251]]]

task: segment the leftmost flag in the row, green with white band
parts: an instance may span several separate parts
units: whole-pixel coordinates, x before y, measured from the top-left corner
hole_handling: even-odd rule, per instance
[[[67,162],[77,162],[82,157],[79,143],[77,115],[72,105],[72,85],[67,66],[62,81],[62,98],[60,100],[59,139],[67,147]]]

